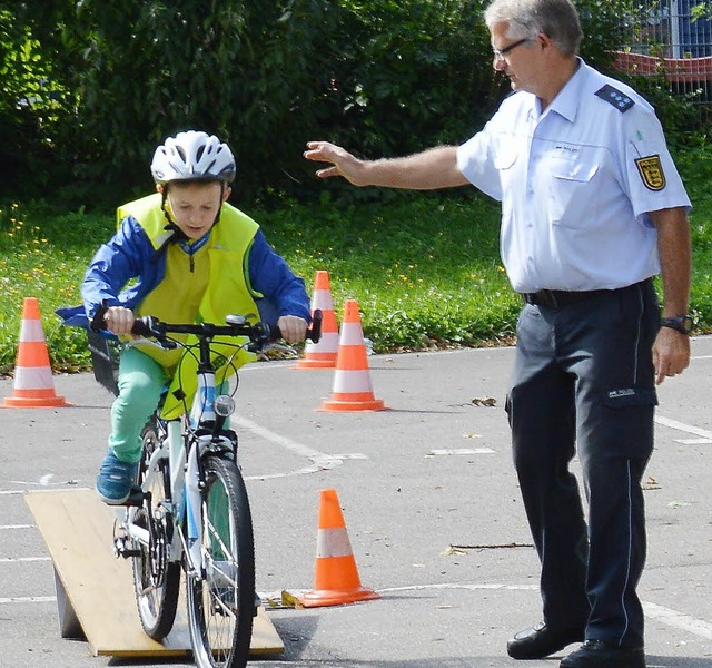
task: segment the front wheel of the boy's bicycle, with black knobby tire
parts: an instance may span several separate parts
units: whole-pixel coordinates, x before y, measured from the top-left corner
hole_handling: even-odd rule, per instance
[[[244,668],[255,615],[255,547],[245,481],[220,455],[202,460],[205,578],[188,574],[188,627],[199,668]]]

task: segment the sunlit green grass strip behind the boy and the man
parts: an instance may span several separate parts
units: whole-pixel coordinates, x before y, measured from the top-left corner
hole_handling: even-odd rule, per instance
[[[703,149],[681,160],[694,209],[692,311],[712,328],[712,165]],[[337,317],[358,301],[377,352],[511,342],[520,299],[498,254],[497,203],[403,194],[387,203],[285,204],[257,210],[237,203],[305,277],[329,272]],[[37,297],[56,370],[89,365],[81,331],[60,326],[55,308],[78,304],[83,271],[113,230],[113,214],[57,213],[41,204],[0,206],[0,373],[11,371],[24,297]]]

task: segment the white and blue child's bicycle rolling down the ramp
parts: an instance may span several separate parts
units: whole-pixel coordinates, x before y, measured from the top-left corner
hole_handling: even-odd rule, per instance
[[[315,312],[307,333],[313,342],[319,338],[320,315]],[[92,326],[100,323],[101,310]],[[134,333],[169,348],[186,347],[171,334],[195,335],[198,343],[187,346],[186,354],[197,355],[198,391],[181,419],[162,420],[157,409],[144,428],[142,460],[126,514],[115,529],[115,553],[134,562],[139,617],[149,637],[161,640],[172,628],[182,568],[196,665],[244,667],[259,603],[253,522],[237,462],[237,435],[226,429],[235,401],[216,396],[211,344],[220,336],[224,351],[225,337],[234,337],[227,345],[235,352],[246,347],[260,353],[279,333],[234,315],[225,325],[144,317],[136,321]],[[95,361],[97,352],[92,351]],[[226,362],[229,365],[230,358]],[[234,366],[233,371],[237,374]]]

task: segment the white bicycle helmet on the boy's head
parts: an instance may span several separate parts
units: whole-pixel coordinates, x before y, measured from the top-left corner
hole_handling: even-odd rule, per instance
[[[215,135],[188,130],[168,137],[151,161],[157,184],[175,180],[219,180],[230,183],[237,165],[233,151]]]

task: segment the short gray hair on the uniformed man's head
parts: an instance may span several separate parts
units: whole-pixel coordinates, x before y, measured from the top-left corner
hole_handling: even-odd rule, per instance
[[[578,52],[583,38],[578,12],[571,0],[493,0],[485,10],[485,23],[508,23],[512,39],[536,39],[546,35],[566,56]]]

